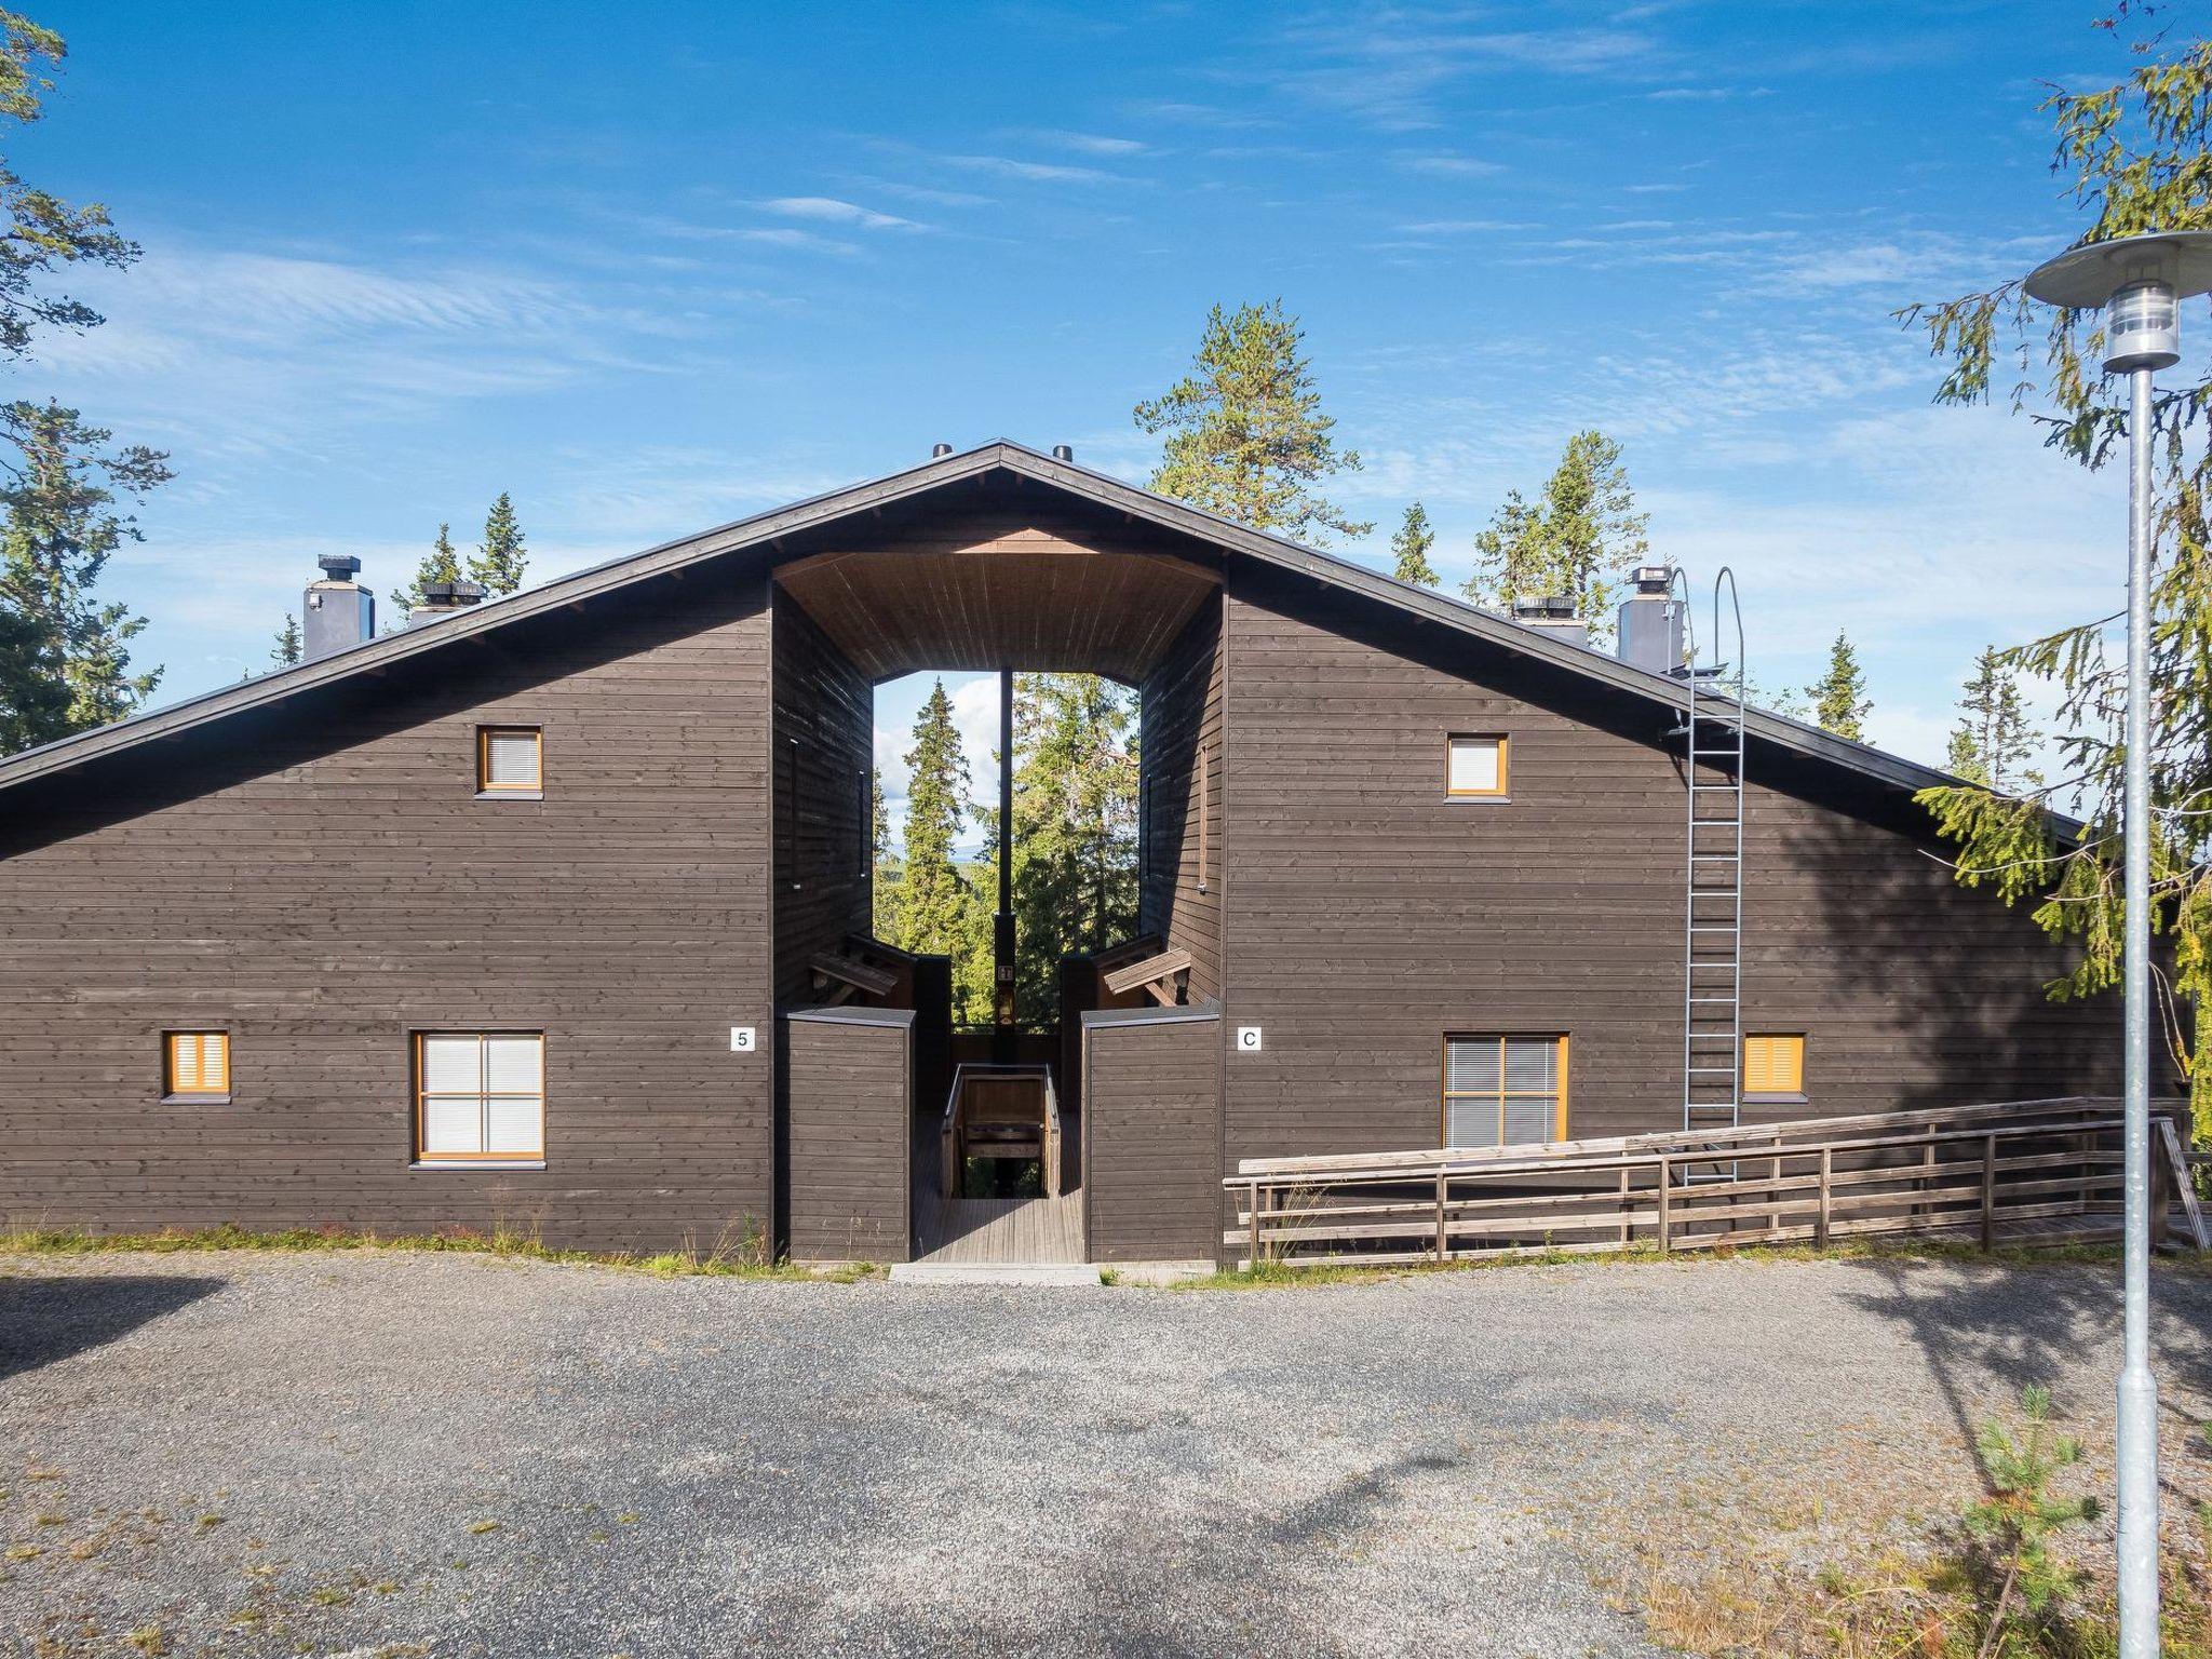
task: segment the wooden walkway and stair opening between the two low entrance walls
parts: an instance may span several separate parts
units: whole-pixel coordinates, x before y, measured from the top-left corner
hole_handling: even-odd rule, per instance
[[[916,1128],[918,1261],[1084,1259],[1084,1194],[1064,1190],[1066,1139],[1048,1066],[964,1064],[938,1124]]]

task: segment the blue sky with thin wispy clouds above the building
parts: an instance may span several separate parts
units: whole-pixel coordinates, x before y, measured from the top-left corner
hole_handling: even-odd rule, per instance
[[[13,159],[146,259],[15,394],[173,451],[111,586],[175,697],[319,553],[398,586],[502,489],[542,577],[936,440],[1141,480],[1130,405],[1279,294],[1367,458],[1345,551],[1420,498],[1458,584],[1601,427],[1763,684],[1843,626],[1940,759],[1980,646],[2119,602],[2121,478],[1931,407],[1889,321],[2077,234],[2035,104],[2121,73],[2095,11],[69,0]]]

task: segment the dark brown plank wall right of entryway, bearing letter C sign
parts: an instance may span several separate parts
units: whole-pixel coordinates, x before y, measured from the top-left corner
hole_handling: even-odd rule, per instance
[[[1599,706],[1482,641],[1245,566],[1223,633],[1223,1018],[1265,1033],[1228,1057],[1230,1164],[1438,1146],[1453,1031],[1568,1033],[1571,1135],[1679,1128],[1683,783],[1666,712]],[[1453,732],[1509,737],[1511,796],[1444,796]],[[1790,794],[1761,783],[1763,759],[1743,1018],[1807,1035],[1807,1097],[1756,1110],[2117,1086],[2117,1004],[2046,1002],[2059,951],[1922,856],[1918,807],[1898,816],[1871,783],[1863,801]]]

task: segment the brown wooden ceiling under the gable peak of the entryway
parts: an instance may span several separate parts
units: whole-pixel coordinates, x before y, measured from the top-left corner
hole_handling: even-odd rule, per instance
[[[1022,668],[1135,684],[1221,584],[1141,526],[975,511],[847,535],[865,544],[799,557],[776,580],[878,681]]]

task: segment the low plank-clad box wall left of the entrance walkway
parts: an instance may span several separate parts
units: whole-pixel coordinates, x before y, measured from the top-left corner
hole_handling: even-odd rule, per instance
[[[790,1252],[796,1261],[907,1261],[911,1009],[794,1009]]]

